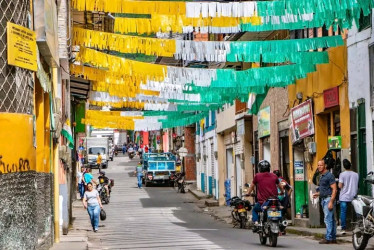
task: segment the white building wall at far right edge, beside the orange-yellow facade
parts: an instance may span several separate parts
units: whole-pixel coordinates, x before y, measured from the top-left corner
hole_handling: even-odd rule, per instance
[[[372,111],[370,107],[370,72],[369,72],[369,45],[374,42],[374,15],[372,27],[358,32],[354,26],[348,32],[348,95],[350,107],[357,107],[357,100],[365,99],[366,111],[366,146],[368,171],[373,167],[373,130]]]

